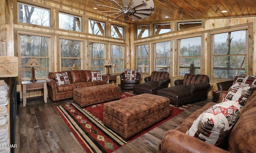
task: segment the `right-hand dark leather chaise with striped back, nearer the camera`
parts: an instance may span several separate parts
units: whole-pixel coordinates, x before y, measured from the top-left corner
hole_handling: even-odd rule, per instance
[[[175,106],[207,99],[209,77],[204,74],[185,74],[184,79],[174,81],[175,86],[160,89],[157,95],[170,99]]]

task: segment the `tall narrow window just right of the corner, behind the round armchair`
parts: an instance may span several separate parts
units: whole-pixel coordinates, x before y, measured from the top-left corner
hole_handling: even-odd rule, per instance
[[[148,44],[136,46],[136,68],[138,72],[148,73]]]

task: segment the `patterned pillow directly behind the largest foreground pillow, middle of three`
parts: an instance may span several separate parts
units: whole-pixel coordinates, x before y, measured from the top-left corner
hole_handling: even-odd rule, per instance
[[[247,101],[252,87],[244,87],[243,85],[240,85],[239,83],[235,83],[228,89],[228,93],[224,96],[222,102],[228,101],[228,100],[234,100],[238,101],[241,106],[244,106],[245,102]]]

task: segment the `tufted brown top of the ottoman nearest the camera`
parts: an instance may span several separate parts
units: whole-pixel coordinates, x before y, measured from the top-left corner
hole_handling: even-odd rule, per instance
[[[156,111],[169,107],[170,99],[143,93],[104,104],[104,112],[129,124]]]

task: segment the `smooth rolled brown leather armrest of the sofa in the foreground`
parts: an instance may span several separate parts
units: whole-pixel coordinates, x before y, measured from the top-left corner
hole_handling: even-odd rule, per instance
[[[219,147],[196,139],[180,131],[168,130],[160,145],[158,153],[229,153]]]

